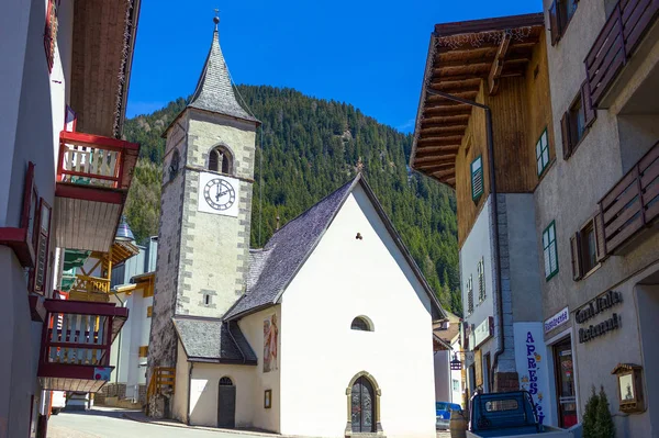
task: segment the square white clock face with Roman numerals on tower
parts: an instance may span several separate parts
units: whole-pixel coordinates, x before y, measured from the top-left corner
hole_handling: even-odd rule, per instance
[[[239,181],[217,173],[201,172],[197,210],[204,213],[238,216]]]

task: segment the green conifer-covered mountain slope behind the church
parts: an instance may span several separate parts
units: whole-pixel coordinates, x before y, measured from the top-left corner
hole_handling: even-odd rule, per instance
[[[346,103],[292,89],[237,90],[244,106],[263,122],[257,132],[252,246],[268,240],[278,215],[280,225],[286,224],[353,178],[361,161],[369,184],[442,304],[461,314],[455,196],[409,171],[412,137]],[[185,105],[181,98],[125,123],[125,138],[142,144],[125,209],[138,240],[158,233],[165,148],[160,135]]]

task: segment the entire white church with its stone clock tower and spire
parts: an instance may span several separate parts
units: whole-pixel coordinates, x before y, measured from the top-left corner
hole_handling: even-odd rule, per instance
[[[283,435],[435,437],[445,317],[361,175],[249,248],[256,130],[217,30],[166,132],[149,370],[164,412]]]

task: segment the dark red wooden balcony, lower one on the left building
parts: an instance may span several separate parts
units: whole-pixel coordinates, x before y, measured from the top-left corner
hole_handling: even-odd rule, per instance
[[[38,379],[44,390],[97,392],[110,380],[110,347],[129,310],[108,303],[46,300]]]

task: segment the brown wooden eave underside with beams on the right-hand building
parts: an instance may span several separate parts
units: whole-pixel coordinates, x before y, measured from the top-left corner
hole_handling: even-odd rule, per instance
[[[473,109],[428,91],[466,100],[476,100],[481,86],[496,93],[501,78],[525,75],[543,32],[543,13],[435,25],[416,114],[413,169],[455,188],[455,159]]]

